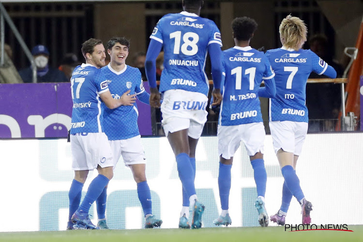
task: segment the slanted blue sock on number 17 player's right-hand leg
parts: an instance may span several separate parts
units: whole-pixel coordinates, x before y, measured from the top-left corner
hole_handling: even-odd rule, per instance
[[[105,189],[105,186],[108,184],[108,181],[108,178],[106,178],[104,175],[98,174],[98,176],[92,180],[90,186],[88,187],[86,196],[84,197],[78,210],[88,213],[92,203],[97,199],[97,197],[100,196],[102,191]]]

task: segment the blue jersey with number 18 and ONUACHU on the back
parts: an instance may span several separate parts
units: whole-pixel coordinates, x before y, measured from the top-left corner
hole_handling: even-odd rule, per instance
[[[181,12],[163,16],[151,36],[164,46],[164,70],[159,91],[182,89],[208,95],[204,72],[208,45],[222,46],[215,23],[196,14]]]

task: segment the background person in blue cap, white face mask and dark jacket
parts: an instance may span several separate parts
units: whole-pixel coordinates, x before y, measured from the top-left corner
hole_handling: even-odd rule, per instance
[[[50,67],[48,64],[49,51],[44,45],[36,45],[31,50],[37,68],[37,82],[68,82],[69,80],[60,70]],[[31,66],[19,71],[24,83],[32,82]]]

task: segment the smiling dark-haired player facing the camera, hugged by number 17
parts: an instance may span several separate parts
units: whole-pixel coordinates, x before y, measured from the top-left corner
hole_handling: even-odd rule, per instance
[[[140,71],[125,63],[129,48],[130,42],[125,38],[110,39],[107,43],[107,53],[111,62],[101,69],[102,73],[107,78],[113,98],[119,99],[122,93],[131,91],[130,94],[136,94],[141,102],[149,105],[150,94],[144,89]],[[137,126],[136,103],[134,106],[121,106],[116,109],[109,109],[106,105],[101,107],[104,110],[104,128],[111,146],[114,167],[122,155],[125,166],[131,168],[137,183],[137,195],[145,215],[145,228],[160,227],[163,221],[154,218],[151,211],[151,192],[146,181],[146,158]],[[107,187],[96,200],[100,228],[108,228],[105,218],[106,189]]]

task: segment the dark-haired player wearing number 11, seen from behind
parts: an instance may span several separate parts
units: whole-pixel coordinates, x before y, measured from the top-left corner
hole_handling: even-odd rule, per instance
[[[231,167],[234,153],[244,142],[250,156],[257,186],[256,208],[258,222],[262,227],[269,224],[265,209],[267,174],[263,161],[265,127],[262,122],[258,97],[274,97],[276,93],[274,73],[269,60],[250,46],[257,23],[249,17],[238,17],[232,21],[236,46],[222,52],[223,76],[221,103],[218,121],[218,153],[220,155],[218,186],[221,198],[221,215],[215,225],[230,225],[228,197],[231,188]],[[265,87],[260,87],[264,80]]]

